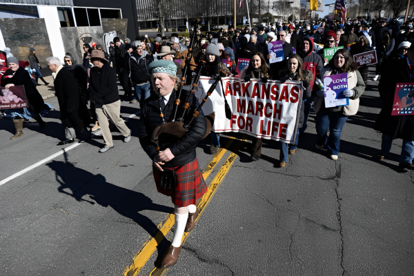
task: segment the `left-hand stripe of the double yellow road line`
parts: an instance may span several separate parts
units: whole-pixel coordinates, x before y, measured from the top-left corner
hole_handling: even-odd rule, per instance
[[[228,141],[228,144],[226,144],[226,148],[228,148],[233,141],[234,140]],[[226,151],[227,150],[225,148],[220,148],[220,150],[215,154],[215,156],[213,157],[213,160],[210,161],[206,170],[203,172],[204,180],[207,179],[207,177],[213,171],[215,166],[219,163],[220,159],[224,156]],[[138,275],[141,268],[145,266],[146,262],[148,262],[148,259],[150,259],[150,257],[154,253],[158,244],[161,243],[161,240],[164,239],[164,237],[170,231],[172,226],[174,226],[174,219],[175,219],[175,216],[173,213],[166,215],[164,220],[161,221],[161,223],[157,226],[159,231],[155,235],[155,237],[148,238],[147,242],[144,243],[141,250],[139,250],[139,252],[135,254],[135,256],[133,257],[132,264],[130,266],[127,266],[124,269],[124,276]]]

